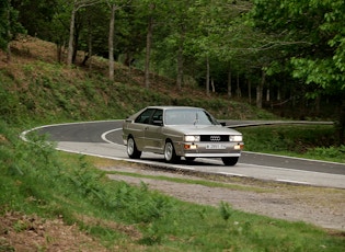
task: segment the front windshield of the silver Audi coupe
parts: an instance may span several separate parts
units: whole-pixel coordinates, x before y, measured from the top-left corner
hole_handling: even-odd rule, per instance
[[[203,110],[166,110],[164,113],[165,125],[219,125],[219,123]]]

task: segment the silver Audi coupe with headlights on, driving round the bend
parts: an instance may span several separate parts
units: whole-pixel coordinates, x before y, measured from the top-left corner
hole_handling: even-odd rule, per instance
[[[191,106],[148,106],[124,121],[123,139],[129,158],[154,152],[171,163],[181,157],[187,161],[221,158],[226,165],[234,165],[244,147],[241,133],[222,126],[204,108]]]

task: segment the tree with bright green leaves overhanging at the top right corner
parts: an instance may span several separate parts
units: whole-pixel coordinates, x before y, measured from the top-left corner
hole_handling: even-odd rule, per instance
[[[309,95],[336,94],[338,139],[345,131],[345,2],[343,0],[255,0],[253,19],[256,27],[280,35],[272,46],[291,48],[292,76],[318,89]]]

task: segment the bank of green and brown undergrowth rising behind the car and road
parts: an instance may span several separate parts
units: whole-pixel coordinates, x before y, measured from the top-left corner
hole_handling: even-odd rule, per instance
[[[152,80],[153,88],[146,89],[133,80],[110,81],[83,68],[69,69],[39,60],[4,66],[0,70],[0,117],[20,125],[27,125],[33,118],[36,124],[120,119],[148,105],[202,106],[217,118],[275,117],[254,106],[217,95],[203,96],[196,92],[193,96],[191,90],[174,91],[174,88],[170,93],[160,92],[154,84],[162,83]]]

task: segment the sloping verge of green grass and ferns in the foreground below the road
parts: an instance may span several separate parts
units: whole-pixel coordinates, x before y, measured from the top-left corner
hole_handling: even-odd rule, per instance
[[[131,250],[146,251],[342,251],[345,248],[344,237],[331,236],[303,222],[245,214],[227,203],[218,207],[184,203],[149,191],[143,183],[137,187],[111,181],[84,156],[61,154],[38,137],[34,144],[23,142],[18,139],[18,131],[4,123],[0,124],[0,136],[1,214],[62,217],[65,222],[77,224],[105,247],[120,244],[124,250],[126,244]],[[195,183],[227,186],[203,180]],[[112,224],[131,228],[140,237],[134,240]]]

